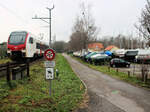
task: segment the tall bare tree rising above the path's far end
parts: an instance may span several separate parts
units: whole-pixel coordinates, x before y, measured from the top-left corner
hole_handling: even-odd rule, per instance
[[[87,49],[87,44],[95,41],[98,28],[91,14],[91,6],[85,3],[80,5],[82,16],[77,16],[70,36],[70,46],[74,50]]]

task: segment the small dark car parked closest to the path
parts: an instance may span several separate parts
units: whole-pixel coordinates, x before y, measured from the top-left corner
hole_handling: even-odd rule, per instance
[[[130,67],[130,62],[123,59],[114,58],[110,61],[111,67]]]

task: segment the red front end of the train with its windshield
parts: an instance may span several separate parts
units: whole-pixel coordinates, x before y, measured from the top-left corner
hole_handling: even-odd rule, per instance
[[[26,40],[28,33],[25,31],[12,32],[7,42],[7,54],[12,60],[21,60],[26,57]]]

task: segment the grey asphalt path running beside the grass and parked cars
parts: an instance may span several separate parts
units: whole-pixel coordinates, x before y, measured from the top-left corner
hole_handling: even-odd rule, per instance
[[[149,90],[114,79],[63,55],[88,90],[88,106],[77,112],[150,112]]]

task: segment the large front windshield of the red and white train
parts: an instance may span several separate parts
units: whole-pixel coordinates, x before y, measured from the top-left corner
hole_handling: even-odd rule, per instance
[[[12,45],[24,44],[26,35],[27,35],[26,32],[12,32],[10,34],[9,44]]]

